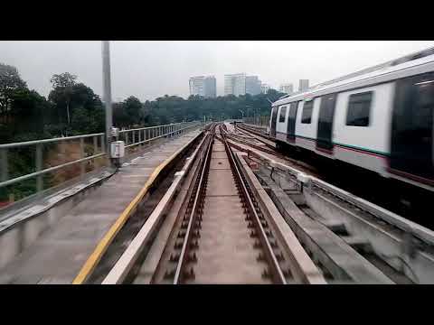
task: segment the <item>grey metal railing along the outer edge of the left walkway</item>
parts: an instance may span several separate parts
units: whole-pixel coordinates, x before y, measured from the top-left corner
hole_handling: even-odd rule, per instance
[[[133,146],[139,144],[146,144],[154,141],[156,139],[162,137],[172,137],[175,135],[181,135],[185,132],[188,132],[193,127],[202,125],[200,122],[182,122],[170,125],[156,125],[150,127],[143,127],[137,129],[130,130],[122,130],[119,131],[119,140],[125,141],[126,148],[131,148]],[[17,182],[36,179],[35,190],[39,192],[43,189],[43,176],[48,172],[55,172],[60,169],[69,167],[71,165],[80,164],[80,175],[86,173],[86,165],[90,161],[93,161],[97,158],[107,156],[106,146],[105,146],[106,135],[104,133],[92,134],[92,135],[76,135],[76,136],[67,136],[67,137],[59,137],[52,139],[44,139],[44,140],[34,140],[34,141],[26,141],[21,143],[14,144],[0,144],[0,189],[4,188],[8,185],[13,185]],[[90,144],[85,144],[85,141]],[[50,146],[52,144],[61,144],[65,142],[78,141],[78,159],[73,159],[67,163],[60,163],[54,166],[43,167],[44,159],[43,159],[43,151],[46,149],[46,146]],[[85,145],[90,145],[90,155],[87,156]],[[30,149],[30,156],[34,157],[33,160],[33,168],[34,172],[26,173],[24,175],[19,175],[14,178],[9,178],[9,154],[11,151],[16,150],[16,148],[27,147]],[[34,150],[32,150],[34,147]],[[66,155],[65,146],[61,146],[61,153]]]

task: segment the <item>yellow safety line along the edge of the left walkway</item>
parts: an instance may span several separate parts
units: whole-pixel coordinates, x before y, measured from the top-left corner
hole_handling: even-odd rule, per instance
[[[193,138],[193,140],[199,135],[196,135]],[[165,162],[161,163],[156,167],[155,171],[151,174],[149,179],[146,181],[145,186],[142,188],[142,190],[140,190],[136,198],[134,198],[134,200],[132,200],[128,204],[127,209],[125,209],[121,213],[121,215],[116,220],[116,222],[111,226],[111,228],[109,228],[109,231],[106,233],[106,235],[104,235],[104,237],[102,237],[102,239],[99,241],[93,253],[89,256],[86,263],[81,267],[80,273],[77,274],[74,281],[72,281],[72,284],[82,284],[88,279],[89,275],[98,265],[102,255],[104,255],[104,253],[107,251],[107,248],[109,248],[109,245],[116,237],[119,230],[127,222],[127,219],[131,214],[131,211],[137,207],[138,202],[140,202],[140,200],[143,199],[143,197],[146,195],[147,190],[149,190],[149,188],[154,183],[154,181],[156,181],[156,177],[158,176],[158,174],[165,168],[165,166],[167,166],[167,164],[171,163],[179,153],[182,153],[184,149],[193,142],[193,140],[189,141],[182,148],[180,148],[178,151],[172,154],[170,158],[166,159]]]

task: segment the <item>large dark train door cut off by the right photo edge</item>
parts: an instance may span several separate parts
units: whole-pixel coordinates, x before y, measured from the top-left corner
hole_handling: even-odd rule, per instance
[[[396,81],[391,172],[434,184],[433,112],[434,73]]]

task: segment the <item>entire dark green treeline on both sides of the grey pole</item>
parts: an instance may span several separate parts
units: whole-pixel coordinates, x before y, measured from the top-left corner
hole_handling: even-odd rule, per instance
[[[18,70],[0,63],[0,143],[104,132],[104,106],[99,95],[69,72],[52,76],[44,98],[27,87]],[[121,128],[182,121],[269,115],[269,100],[283,94],[188,99],[167,96],[140,102],[129,97],[113,104],[113,124]]]

